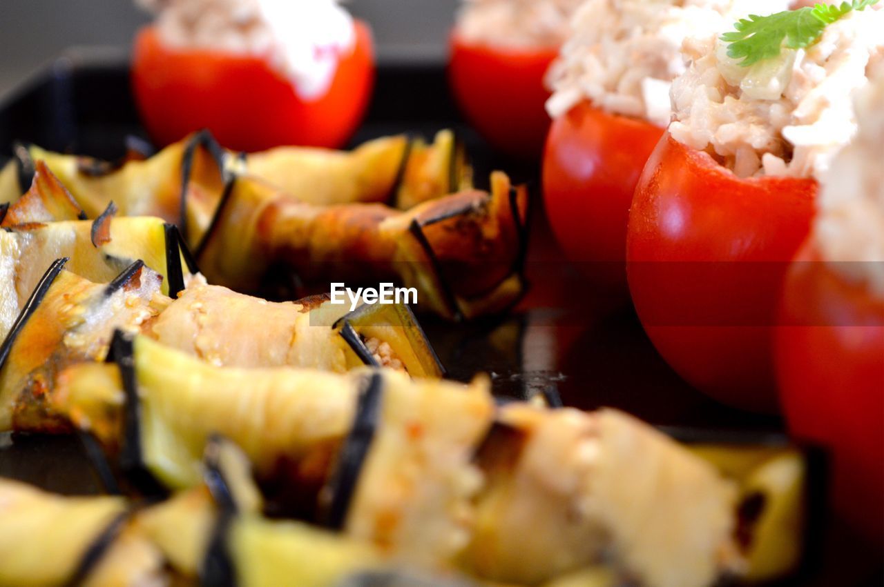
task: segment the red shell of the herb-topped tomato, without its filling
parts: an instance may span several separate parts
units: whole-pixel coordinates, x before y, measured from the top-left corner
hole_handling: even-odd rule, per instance
[[[807,237],[817,183],[741,179],[665,134],[629,210],[629,290],[682,377],[724,403],[775,411],[772,327]]]

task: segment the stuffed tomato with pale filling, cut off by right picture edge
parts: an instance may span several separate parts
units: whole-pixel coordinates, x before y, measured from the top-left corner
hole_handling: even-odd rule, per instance
[[[835,510],[884,543],[884,75],[859,133],[823,177],[812,235],[790,267],[775,334],[789,430],[831,451]]]

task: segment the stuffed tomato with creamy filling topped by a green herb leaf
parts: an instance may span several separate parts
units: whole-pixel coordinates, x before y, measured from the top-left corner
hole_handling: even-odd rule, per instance
[[[629,212],[629,289],[660,354],[722,402],[777,410],[782,279],[810,230],[816,177],[856,126],[850,96],[882,50],[882,14],[849,11],[806,47],[760,60],[739,61],[717,35],[685,44],[674,122]],[[758,19],[758,38],[777,23]]]

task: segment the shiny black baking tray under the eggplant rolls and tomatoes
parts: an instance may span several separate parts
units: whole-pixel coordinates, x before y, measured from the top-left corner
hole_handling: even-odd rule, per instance
[[[491,373],[495,394],[510,397],[556,388],[567,405],[627,410],[685,441],[789,442],[779,418],[728,409],[691,388],[659,357],[631,308],[612,304],[560,261],[540,206],[537,162],[507,160],[465,124],[443,64],[380,64],[368,116],[352,142],[397,132],[431,137],[443,128],[455,129],[466,143],[477,184],[490,170],[504,169],[529,185],[527,271],[535,284],[534,293],[507,317],[455,326],[422,318],[449,376],[468,380]],[[22,141],[114,160],[124,154],[129,136],[147,139],[125,54],[70,52],[0,101],[0,154],[10,154],[14,142]],[[544,295],[550,283],[567,288],[575,303],[551,303],[562,297]],[[807,564],[789,584],[882,584],[880,553],[865,552],[856,538],[826,520],[819,455],[809,454],[814,486]],[[72,437],[0,434],[0,476],[60,493],[100,491],[83,446]]]

